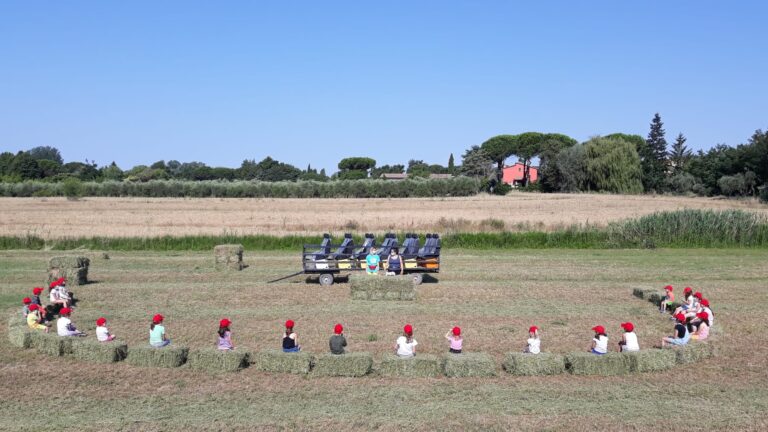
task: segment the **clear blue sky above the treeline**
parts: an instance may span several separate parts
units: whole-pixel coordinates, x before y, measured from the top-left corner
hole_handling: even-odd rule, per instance
[[[446,164],[501,133],[768,128],[763,1],[2,1],[0,151]]]

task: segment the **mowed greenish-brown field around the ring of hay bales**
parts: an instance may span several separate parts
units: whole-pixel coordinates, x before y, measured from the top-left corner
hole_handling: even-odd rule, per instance
[[[98,254],[94,254],[98,256]],[[50,358],[0,338],[1,430],[766,430],[768,429],[768,253],[761,250],[542,250],[444,252],[439,282],[416,302],[349,300],[348,286],[298,278],[296,254],[247,252],[250,267],[216,273],[207,253],[110,253],[94,259],[93,284],[78,288],[73,319],[91,333],[96,317],[129,344],[145,344],[161,312],[174,344],[213,346],[217,322],[234,321],[239,349],[278,347],[285,319],[307,351],[327,349],[336,322],[352,351],[379,357],[402,325],[420,352],[443,354],[443,335],[464,329],[465,349],[523,347],[528,326],[543,349],[586,350],[596,324],[615,348],[631,320],[641,346],[672,324],[631,295],[633,287],[690,285],[713,305],[724,334],[717,357],[668,372],[622,377],[482,379],[307,378],[245,369],[212,375],[181,367],[145,369]],[[0,308],[45,276],[48,252],[0,252]],[[0,321],[5,333],[6,320]],[[93,335],[91,334],[91,337]]]

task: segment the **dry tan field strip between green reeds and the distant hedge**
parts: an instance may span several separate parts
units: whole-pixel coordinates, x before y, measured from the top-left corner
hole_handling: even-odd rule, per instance
[[[424,199],[0,198],[0,235],[154,237],[554,230],[656,211],[749,209],[754,201],[647,195],[531,194]],[[494,221],[494,222],[495,222]]]

